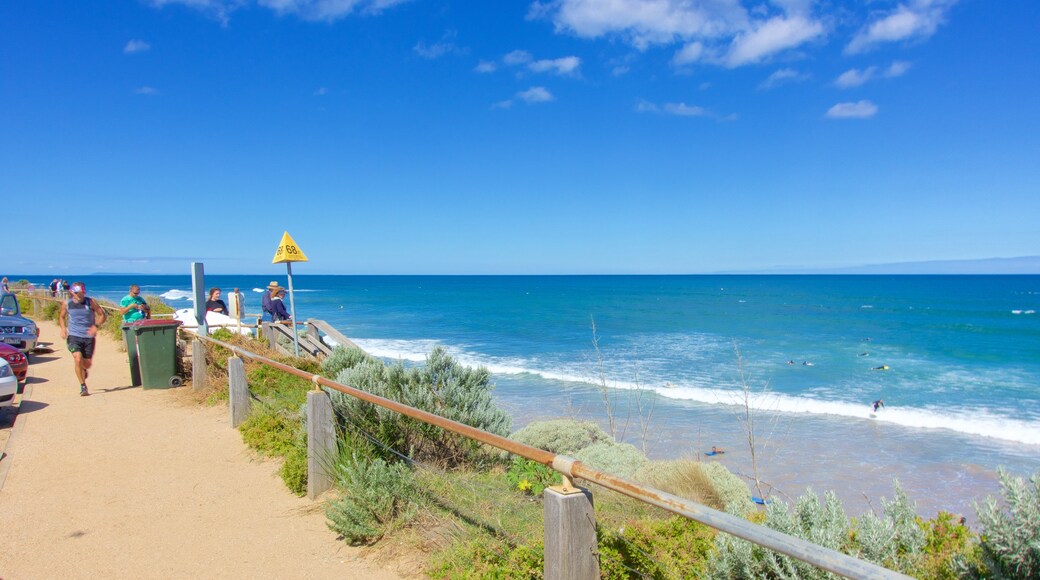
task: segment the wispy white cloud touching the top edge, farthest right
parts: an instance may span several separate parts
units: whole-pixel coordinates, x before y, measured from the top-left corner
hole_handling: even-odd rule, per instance
[[[846,53],[858,54],[883,43],[928,38],[945,21],[957,0],[910,0],[864,26],[846,46]]]

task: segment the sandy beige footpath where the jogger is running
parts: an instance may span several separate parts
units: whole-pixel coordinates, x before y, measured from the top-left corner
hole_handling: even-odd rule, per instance
[[[131,388],[125,352],[99,338],[79,396],[53,322],[0,460],[0,578],[397,578],[326,526],[183,390]],[[2,437],[0,437],[2,441]]]

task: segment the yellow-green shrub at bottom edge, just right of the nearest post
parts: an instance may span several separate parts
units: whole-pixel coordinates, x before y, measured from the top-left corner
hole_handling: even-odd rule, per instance
[[[681,516],[598,526],[596,535],[604,578],[698,578],[714,552],[714,530]]]

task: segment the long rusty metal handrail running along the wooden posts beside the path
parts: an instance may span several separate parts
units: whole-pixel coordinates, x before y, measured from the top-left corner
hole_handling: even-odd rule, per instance
[[[898,572],[893,572],[886,568],[877,565],[875,563],[842,554],[836,550],[831,550],[830,548],[825,548],[823,546],[817,546],[805,539],[787,535],[779,531],[766,528],[765,526],[759,526],[743,520],[735,516],[719,511],[718,509],[712,509],[705,505],[701,505],[697,502],[674,496],[672,494],[656,490],[649,485],[645,485],[635,481],[629,481],[627,479],[617,477],[609,473],[605,473],[589,467],[581,462],[574,459],[573,457],[568,457],[566,455],[552,453],[544,449],[539,449],[537,447],[531,447],[529,445],[524,445],[506,439],[501,436],[490,433],[469,425],[459,423],[457,421],[451,421],[445,419],[438,415],[427,413],[425,411],[420,411],[415,407],[401,404],[397,401],[386,399],[371,393],[367,393],[360,389],[354,387],[348,387],[346,385],[341,385],[324,378],[318,374],[311,374],[304,372],[300,369],[272,361],[255,352],[251,352],[238,346],[228,344],[218,340],[214,340],[210,337],[199,336],[199,340],[210,342],[217,346],[227,348],[228,350],[235,352],[243,358],[262,363],[269,367],[279,369],[283,372],[300,376],[311,380],[315,385],[320,385],[350,395],[360,400],[376,404],[384,408],[399,413],[407,417],[417,419],[424,423],[441,427],[443,429],[449,430],[451,432],[461,434],[463,437],[469,438],[480,443],[491,445],[503,451],[508,451],[515,455],[538,462],[542,465],[548,466],[553,470],[563,474],[566,478],[580,478],[588,481],[592,481],[598,485],[613,490],[619,494],[628,496],[630,498],[644,501],[646,503],[656,505],[662,509],[683,516],[691,520],[700,522],[707,526],[710,526],[719,531],[723,531],[740,537],[748,542],[757,544],[763,548],[769,548],[781,554],[785,554],[792,558],[802,560],[804,562],[810,563],[828,572],[838,574],[848,578],[862,578],[862,579],[889,579],[889,578],[909,578]],[[565,481],[569,483],[569,481]]]

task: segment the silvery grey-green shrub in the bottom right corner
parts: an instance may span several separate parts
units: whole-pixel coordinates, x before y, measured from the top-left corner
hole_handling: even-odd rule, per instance
[[[1040,472],[1029,481],[997,470],[1003,502],[992,496],[976,512],[982,525],[980,548],[987,574],[993,578],[1040,577]],[[961,562],[962,569],[969,564]]]

